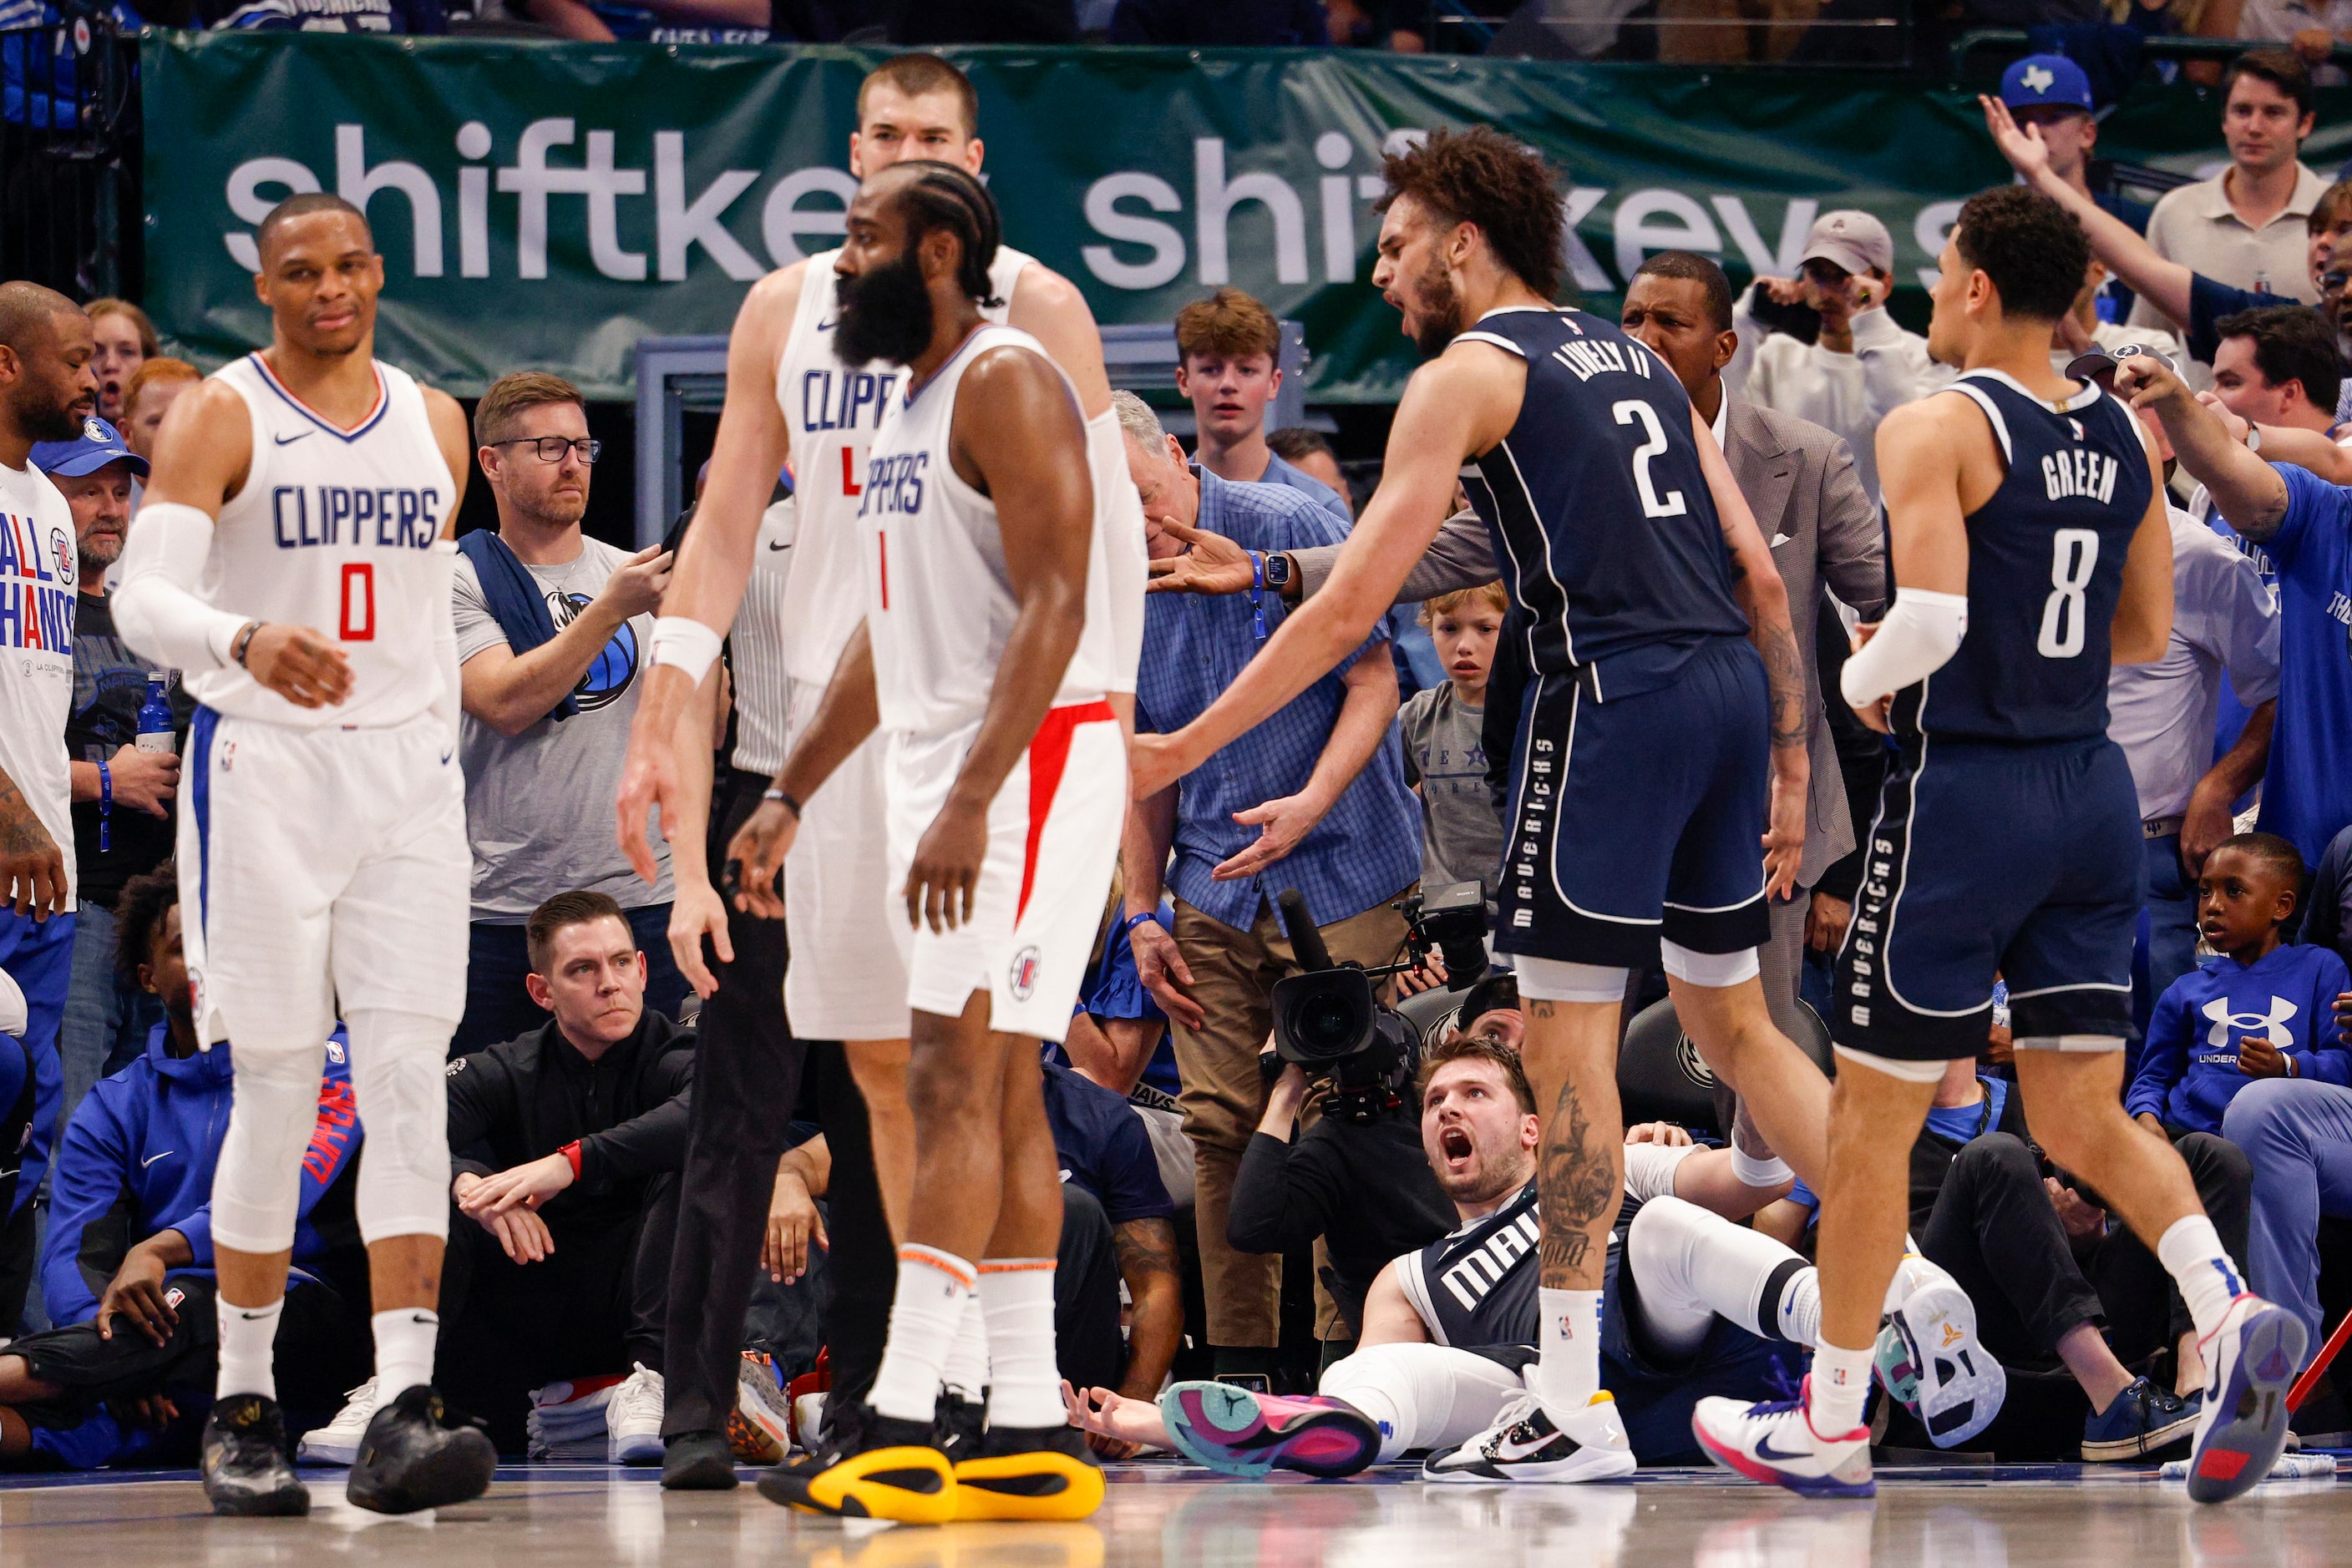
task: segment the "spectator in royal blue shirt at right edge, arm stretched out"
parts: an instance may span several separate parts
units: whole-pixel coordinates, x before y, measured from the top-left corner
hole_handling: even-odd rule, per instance
[[[2324,381],[2312,369],[2305,378]],[[2352,489],[2246,449],[2244,430],[2197,402],[2187,383],[2147,355],[2117,371],[2117,393],[2152,407],[2180,465],[2213,498],[2213,512],[2277,571],[2279,705],[2263,773],[2263,832],[2319,860],[2352,823]],[[2324,437],[2288,433],[2333,449]],[[2300,461],[2300,458],[2298,458]],[[2260,567],[2260,562],[2256,562]]]

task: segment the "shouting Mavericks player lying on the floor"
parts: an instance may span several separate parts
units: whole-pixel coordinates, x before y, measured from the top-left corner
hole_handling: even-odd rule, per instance
[[[1668,1143],[1675,1135],[1661,1126],[1628,1131],[1630,1222],[1621,1215],[1609,1234],[1602,1368],[1632,1458],[1569,1446],[1548,1462],[1545,1481],[1604,1481],[1637,1460],[1698,1460],[1698,1399],[1733,1387],[1769,1399],[1795,1387],[1799,1347],[1818,1333],[1813,1267],[1731,1222],[1785,1185],[1748,1187],[1731,1173],[1729,1150],[1677,1147]],[[1522,1373],[1536,1359],[1536,1143],[1534,1091],[1519,1058],[1479,1037],[1449,1041],[1423,1070],[1421,1145],[1461,1229],[1381,1269],[1359,1349],[1324,1371],[1322,1392],[1289,1399],[1178,1382],[1152,1406],[1108,1389],[1065,1389],[1070,1420],[1120,1441],[1178,1448],[1225,1474],[1345,1476],[1428,1450],[1428,1481],[1498,1479],[1496,1458],[1531,1408]],[[1905,1258],[1891,1295],[1907,1342],[1933,1335],[1940,1345],[1945,1326],[1973,1342],[1966,1295],[1924,1258]],[[1973,1361],[1994,1366],[1990,1356]],[[1950,1441],[1980,1432],[1999,1410],[1999,1375],[1969,1385],[1947,1378],[1957,1373],[1950,1359],[1929,1366],[1917,1399],[1938,1415],[1952,1401],[1971,1406]]]

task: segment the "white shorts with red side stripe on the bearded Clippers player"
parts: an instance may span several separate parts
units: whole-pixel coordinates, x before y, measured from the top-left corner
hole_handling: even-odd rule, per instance
[[[988,1027],[1058,1041],[1087,978],[1094,931],[1127,823],[1127,738],[1110,703],[1047,712],[1004,788],[988,804],[988,858],[971,919],[953,931],[913,926],[906,872],[938,816],[976,726],[889,738],[889,879],[884,907],[906,954],[906,1006],[962,1016],[988,992]],[[800,961],[800,954],[793,954]]]

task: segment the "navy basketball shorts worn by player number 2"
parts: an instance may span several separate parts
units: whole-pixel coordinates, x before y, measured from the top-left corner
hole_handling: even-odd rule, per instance
[[[1745,952],[1771,936],[1764,661],[1712,637],[1672,682],[1595,696],[1538,675],[1519,708],[1496,947],[1621,969],[1658,938]]]

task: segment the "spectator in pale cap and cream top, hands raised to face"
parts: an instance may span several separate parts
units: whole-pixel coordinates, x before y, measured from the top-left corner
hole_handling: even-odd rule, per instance
[[[1731,308],[1740,346],[1724,388],[1846,437],[1853,470],[1879,498],[1877,433],[1891,409],[1945,386],[1952,374],[1926,357],[1926,339],[1886,313],[1896,287],[1896,237],[1867,212],[1825,212],[1804,237],[1797,277],[1757,277]],[[1811,343],[1766,329],[1757,294],[1820,317]]]

